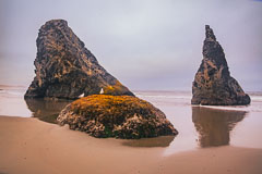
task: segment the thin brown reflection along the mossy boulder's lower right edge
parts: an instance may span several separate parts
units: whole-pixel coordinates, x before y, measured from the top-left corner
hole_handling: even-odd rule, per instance
[[[160,136],[156,138],[142,138],[142,139],[130,139],[124,141],[122,145],[131,147],[168,147],[175,136]]]

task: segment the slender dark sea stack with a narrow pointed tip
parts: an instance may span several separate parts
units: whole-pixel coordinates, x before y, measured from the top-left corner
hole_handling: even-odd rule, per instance
[[[192,104],[246,105],[250,97],[230,76],[225,53],[209,25],[205,26],[203,60],[194,76]]]

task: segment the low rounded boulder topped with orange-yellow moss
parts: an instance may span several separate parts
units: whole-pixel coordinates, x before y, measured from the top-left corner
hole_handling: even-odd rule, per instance
[[[73,101],[58,123],[94,137],[138,139],[178,132],[165,114],[151,103],[131,96],[93,95]]]

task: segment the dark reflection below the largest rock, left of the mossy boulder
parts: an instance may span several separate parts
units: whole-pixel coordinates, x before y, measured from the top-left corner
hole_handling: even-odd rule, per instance
[[[27,108],[33,113],[34,117],[48,123],[57,123],[57,116],[60,111],[69,103],[71,100],[45,100],[45,99],[26,99]]]

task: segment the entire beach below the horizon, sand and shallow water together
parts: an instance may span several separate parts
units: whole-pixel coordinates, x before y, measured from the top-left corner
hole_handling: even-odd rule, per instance
[[[233,173],[262,171],[262,95],[249,107],[195,107],[191,94],[138,91],[179,130],[139,140],[99,139],[56,124],[71,101],[24,100],[24,88],[0,92],[0,173]]]

